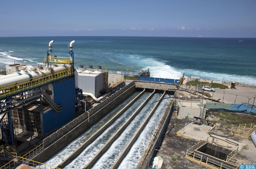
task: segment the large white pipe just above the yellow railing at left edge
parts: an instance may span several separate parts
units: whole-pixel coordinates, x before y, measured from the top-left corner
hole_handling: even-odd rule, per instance
[[[37,77],[37,76],[39,76],[39,75],[36,73],[31,73],[31,74],[24,74],[24,75],[17,76],[17,77],[11,77],[8,79],[3,79],[3,80],[0,80],[0,86],[17,83],[19,81],[29,80],[29,79],[31,79],[33,77]]]

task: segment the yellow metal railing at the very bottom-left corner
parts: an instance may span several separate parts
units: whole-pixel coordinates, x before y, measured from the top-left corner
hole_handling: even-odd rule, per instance
[[[18,166],[20,164],[24,164],[27,166],[31,166],[31,167],[37,167],[39,169],[59,169],[57,167],[51,166],[51,165],[47,165],[44,163],[40,163],[40,162],[36,162],[27,158],[23,158],[23,157],[16,157],[14,160],[12,160],[11,162],[8,162],[6,165],[2,166],[1,169],[11,169],[15,166]]]

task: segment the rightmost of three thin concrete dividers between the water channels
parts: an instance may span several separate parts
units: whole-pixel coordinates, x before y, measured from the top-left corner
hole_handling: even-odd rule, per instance
[[[154,108],[151,110],[151,112],[149,113],[149,115],[146,117],[146,119],[144,120],[143,124],[139,127],[139,129],[137,130],[137,132],[134,134],[134,136],[132,137],[132,140],[129,141],[129,143],[127,144],[127,146],[124,148],[124,150],[122,151],[121,155],[119,155],[119,157],[117,158],[117,160],[115,161],[115,163],[112,165],[111,169],[117,169],[117,167],[120,165],[121,161],[123,160],[123,158],[127,155],[128,151],[130,150],[130,148],[132,147],[132,145],[134,144],[134,142],[137,140],[137,138],[139,137],[139,134],[142,132],[142,130],[144,129],[144,127],[146,126],[146,124],[148,123],[148,121],[150,120],[151,116],[154,114],[154,112],[156,111],[158,105],[160,104],[160,102],[162,101],[161,99],[163,99],[165,97],[165,93],[162,95],[162,97],[159,99],[160,101],[158,101],[156,103],[156,105],[154,106]]]

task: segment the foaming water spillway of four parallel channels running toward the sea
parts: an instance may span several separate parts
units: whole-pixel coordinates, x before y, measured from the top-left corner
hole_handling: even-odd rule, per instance
[[[132,157],[132,163],[136,166],[148,144],[147,141],[149,141],[152,136],[150,132],[154,132],[154,129],[164,112],[165,106],[169,101],[169,99],[164,99],[160,105],[156,105],[154,102],[163,98],[164,95],[151,92],[143,91],[133,93],[98,123],[95,123],[91,128],[84,132],[84,134],[80,135],[80,137],[67,145],[62,151],[44,163],[65,169],[110,169],[122,151],[124,149],[127,150],[125,147],[128,146],[130,140],[134,140],[132,138],[136,135],[139,136],[139,138],[137,139],[136,137],[137,141],[135,143],[132,142],[134,145],[129,143],[130,146],[132,146],[131,150],[129,152],[127,151],[128,155],[122,162],[120,160],[120,166],[128,166],[129,164],[126,164],[126,162],[129,162],[131,160],[130,157]],[[153,108],[155,111],[152,110]],[[120,115],[117,116],[118,114]],[[151,118],[148,117],[149,114],[153,114]],[[113,120],[115,117],[116,119]],[[148,120],[145,119],[150,119],[149,123],[147,123]],[[106,127],[107,123],[110,121],[113,122]],[[140,129],[139,133],[142,131],[141,134],[135,134],[138,133],[137,130],[141,128],[142,124],[146,126],[145,128],[143,126],[144,129]],[[102,130],[102,132],[99,132],[100,130]],[[93,137],[94,139],[92,139]],[[82,148],[84,144],[86,144],[86,146]],[[109,145],[106,146],[107,144]],[[104,151],[102,151],[102,149],[104,149]],[[74,154],[76,155],[74,156]],[[100,156],[97,157],[99,154]],[[95,156],[97,158],[95,158]],[[72,157],[71,160],[69,159],[70,157]],[[121,157],[123,158],[124,156]],[[121,157],[119,157],[119,159]],[[132,168],[135,168],[135,166]]]

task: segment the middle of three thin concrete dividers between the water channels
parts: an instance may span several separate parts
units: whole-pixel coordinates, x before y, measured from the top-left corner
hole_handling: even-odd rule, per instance
[[[132,114],[132,116],[124,123],[124,125],[110,138],[110,140],[97,152],[97,154],[91,158],[91,160],[84,166],[83,169],[91,169],[91,167],[99,160],[99,158],[108,150],[111,144],[122,134],[125,128],[132,122],[134,117],[140,112],[141,109],[146,105],[146,103],[153,97],[154,92],[143,102],[141,106]]]

